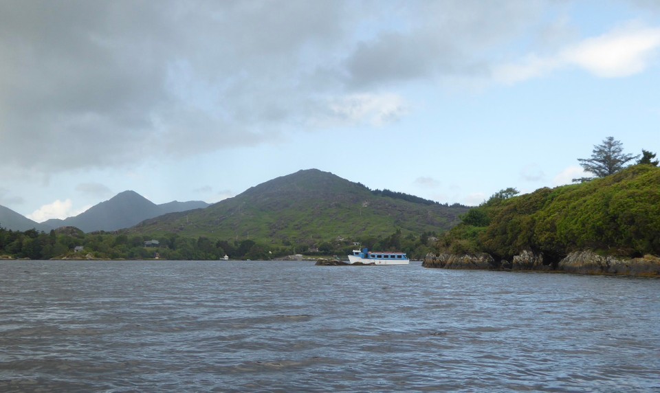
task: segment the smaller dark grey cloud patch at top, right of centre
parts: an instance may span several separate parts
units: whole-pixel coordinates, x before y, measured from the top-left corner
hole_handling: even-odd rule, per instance
[[[346,66],[355,87],[442,76],[486,76],[484,49],[536,20],[540,1],[425,1],[408,23],[358,43]]]

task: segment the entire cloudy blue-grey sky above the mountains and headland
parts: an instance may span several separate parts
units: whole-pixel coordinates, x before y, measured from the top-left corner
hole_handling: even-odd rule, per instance
[[[660,1],[0,0],[0,205],[38,222],[309,168],[478,205],[610,136],[660,153]]]

